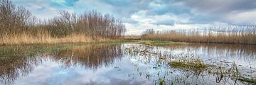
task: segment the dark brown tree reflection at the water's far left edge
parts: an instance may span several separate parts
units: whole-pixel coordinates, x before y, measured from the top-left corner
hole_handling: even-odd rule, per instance
[[[26,49],[19,46],[0,47],[0,83],[9,84],[18,77],[29,74],[36,64],[41,63],[36,57],[26,57]]]

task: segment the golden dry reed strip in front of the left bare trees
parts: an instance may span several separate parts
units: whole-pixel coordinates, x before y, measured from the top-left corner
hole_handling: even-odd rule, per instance
[[[90,38],[83,34],[71,34],[63,38],[53,38],[50,35],[33,36],[30,34],[6,35],[0,38],[0,45],[27,45],[27,44],[56,44],[74,42],[94,42],[111,40],[107,38]]]

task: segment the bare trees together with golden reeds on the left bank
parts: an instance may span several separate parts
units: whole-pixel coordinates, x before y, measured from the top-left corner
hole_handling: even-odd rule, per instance
[[[81,15],[60,11],[60,16],[40,21],[30,11],[0,0],[0,45],[91,42],[122,37],[125,26],[110,14],[87,11]]]

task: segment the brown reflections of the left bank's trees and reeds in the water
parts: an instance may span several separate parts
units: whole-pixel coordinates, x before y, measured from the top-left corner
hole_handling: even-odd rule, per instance
[[[35,67],[42,64],[61,64],[61,69],[82,67],[94,69],[108,67],[122,56],[121,45],[83,45],[60,52],[23,54],[29,47],[5,47],[1,56],[8,59],[0,60],[0,83],[13,84],[16,79],[26,77]],[[30,57],[32,56],[32,57]]]

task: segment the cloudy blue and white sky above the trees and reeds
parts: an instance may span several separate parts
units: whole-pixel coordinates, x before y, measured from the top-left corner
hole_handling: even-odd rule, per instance
[[[175,30],[256,23],[255,0],[12,0],[34,16],[47,19],[58,11],[97,10],[122,20],[126,35],[148,28]]]

